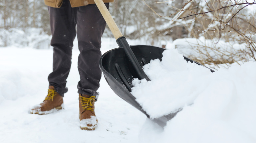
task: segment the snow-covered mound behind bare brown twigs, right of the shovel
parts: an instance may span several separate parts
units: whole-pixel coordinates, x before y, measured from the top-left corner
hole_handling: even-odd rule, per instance
[[[240,63],[250,59],[245,54],[247,50],[245,43],[239,44],[223,40],[215,43],[213,40],[207,40],[203,36],[198,39],[176,39],[173,43],[167,44],[166,48],[175,48],[184,56],[213,69],[220,68],[221,64],[229,66],[231,63]]]

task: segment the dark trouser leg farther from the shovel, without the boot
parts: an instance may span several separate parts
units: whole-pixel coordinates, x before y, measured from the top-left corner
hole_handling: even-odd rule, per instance
[[[71,67],[73,41],[75,39],[76,9],[69,0],[64,0],[60,8],[48,7],[52,32],[53,72],[49,74],[49,85],[64,96],[68,91],[66,79]]]

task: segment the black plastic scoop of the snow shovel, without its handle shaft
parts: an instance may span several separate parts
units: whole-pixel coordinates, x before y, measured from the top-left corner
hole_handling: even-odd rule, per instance
[[[165,50],[164,48],[148,46],[148,45],[133,45],[131,49],[139,61],[140,66],[148,64],[152,59],[162,59],[162,53]],[[184,56],[184,59],[190,62],[193,60]],[[195,62],[197,63],[197,62]],[[199,63],[197,63],[199,64]],[[201,65],[201,64],[199,64]],[[144,113],[149,119],[148,115],[139,103],[136,101],[136,98],[131,94],[132,80],[137,78],[137,74],[132,70],[133,68],[127,61],[127,58],[124,56],[124,48],[116,48],[110,50],[103,54],[99,61],[99,66],[101,71],[104,74],[104,77],[111,87],[111,89],[127,103],[131,104],[139,111]],[[213,70],[211,70],[214,72]],[[182,110],[182,109],[180,109]],[[154,122],[164,127],[166,122],[175,117],[175,115],[180,111],[175,111],[169,115],[162,116],[157,119],[152,119]],[[171,112],[171,111],[170,111]]]

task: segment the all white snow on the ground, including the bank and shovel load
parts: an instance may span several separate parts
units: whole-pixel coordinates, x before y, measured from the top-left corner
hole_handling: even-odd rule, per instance
[[[128,43],[143,44],[129,40]],[[79,51],[76,47],[77,43],[74,44],[73,63],[67,79],[69,91],[64,97],[65,109],[48,115],[33,115],[28,110],[42,102],[47,94],[53,51],[31,47],[0,48],[0,142],[256,142],[256,63],[232,65],[228,70],[211,73],[203,67],[183,62],[174,49],[169,50],[171,53],[166,54],[163,62],[155,61],[146,67],[151,81],[141,83],[152,88],[154,94],[141,92],[147,89],[142,90],[144,87],[139,81],[135,84],[142,87],[133,91],[134,94],[141,92],[142,100],[136,96],[142,105],[146,103],[144,99],[157,105],[146,109],[155,117],[184,105],[165,128],[120,99],[102,77],[98,90],[100,96],[95,103],[98,128],[95,131],[81,130],[76,89]],[[102,53],[115,47],[115,40],[102,39]],[[150,69],[152,67],[157,70]],[[147,85],[150,83],[152,85]],[[172,91],[175,94],[169,94]],[[169,95],[176,95],[173,99],[179,103],[171,106],[170,101],[168,104]],[[177,98],[179,95],[181,99]]]

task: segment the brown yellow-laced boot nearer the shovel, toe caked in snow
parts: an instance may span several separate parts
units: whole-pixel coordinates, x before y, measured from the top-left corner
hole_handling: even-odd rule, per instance
[[[95,96],[79,94],[79,119],[82,130],[95,130],[97,118],[94,112]]]

